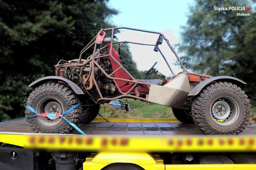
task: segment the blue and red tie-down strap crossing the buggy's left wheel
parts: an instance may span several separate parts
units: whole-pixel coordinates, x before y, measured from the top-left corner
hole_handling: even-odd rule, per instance
[[[31,115],[31,116],[27,116],[27,117],[21,117],[21,118],[15,118],[12,120],[7,120],[5,122],[10,122],[13,120],[21,120],[24,118],[32,118],[32,117],[36,117],[36,116],[42,116],[42,117],[62,117],[64,120],[66,120],[67,123],[69,123],[72,127],[74,127],[78,132],[80,132],[83,135],[86,135],[79,127],[77,127],[77,125],[75,125],[74,123],[70,122],[69,120],[67,120],[67,118],[64,117],[64,115],[66,115],[67,113],[71,112],[72,110],[74,110],[75,108],[77,108],[79,105],[81,105],[80,103],[78,103],[77,105],[72,106],[71,108],[69,108],[69,110],[67,110],[66,112],[62,113],[62,115],[59,114],[52,114],[52,113],[37,113],[37,111],[35,111],[34,108],[32,108],[30,105],[27,105],[26,107],[33,113],[35,113],[35,115]],[[0,123],[5,123],[5,122],[0,122]]]

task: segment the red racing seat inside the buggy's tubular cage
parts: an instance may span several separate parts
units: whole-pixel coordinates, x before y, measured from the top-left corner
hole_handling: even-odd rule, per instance
[[[111,46],[111,43],[108,43],[108,53],[109,54],[110,54],[110,46]],[[116,52],[115,48],[112,48],[112,55],[119,63],[121,63],[119,55]],[[118,63],[115,62],[115,60],[112,57],[109,57],[109,58],[110,58],[110,62],[111,62],[111,67],[112,67],[113,72],[114,72],[120,66],[118,65]],[[122,68],[120,70],[118,70],[117,72],[115,72],[114,76],[116,78],[123,78],[123,79],[126,79],[126,80],[130,80],[130,76]],[[129,83],[129,82],[121,81],[121,80],[116,80],[116,83],[117,83],[118,87],[120,87],[120,90],[122,92],[128,92],[130,90],[130,88],[133,87],[133,85],[135,84],[135,83]],[[148,93],[149,92],[148,85],[139,84],[136,87],[138,88],[138,92],[141,92],[141,93]],[[135,88],[133,88],[131,90],[131,92],[135,92]]]

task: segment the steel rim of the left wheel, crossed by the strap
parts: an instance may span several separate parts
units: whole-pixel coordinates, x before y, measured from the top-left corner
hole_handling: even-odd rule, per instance
[[[53,113],[53,114],[62,114],[64,107],[59,99],[55,97],[45,97],[42,98],[37,106],[37,113]],[[39,116],[39,122],[45,126],[55,126],[59,124],[62,120],[61,117],[41,117]]]

